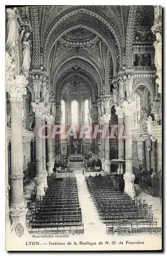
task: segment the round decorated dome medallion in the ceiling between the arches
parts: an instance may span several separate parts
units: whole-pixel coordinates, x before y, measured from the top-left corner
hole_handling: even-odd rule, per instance
[[[84,47],[95,44],[98,40],[99,37],[93,32],[83,28],[77,28],[63,35],[60,42],[66,46]]]

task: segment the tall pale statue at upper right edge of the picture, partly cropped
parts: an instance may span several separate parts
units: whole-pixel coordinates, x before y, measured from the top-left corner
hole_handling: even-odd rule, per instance
[[[153,44],[155,48],[155,67],[157,69],[156,75],[158,78],[156,79],[156,83],[159,85],[158,92],[161,93],[161,72],[162,72],[162,37],[160,32],[156,32],[156,41]]]

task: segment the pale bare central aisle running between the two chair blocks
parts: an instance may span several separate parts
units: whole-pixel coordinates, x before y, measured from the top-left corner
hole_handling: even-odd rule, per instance
[[[75,176],[82,210],[82,222],[85,229],[84,234],[86,236],[97,236],[101,233],[102,236],[106,236],[106,225],[100,220],[96,206],[90,198],[84,175],[82,175],[82,168],[75,170]]]

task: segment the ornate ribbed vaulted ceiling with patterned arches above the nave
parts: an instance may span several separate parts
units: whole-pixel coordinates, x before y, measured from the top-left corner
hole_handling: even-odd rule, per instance
[[[151,8],[133,8],[135,33],[146,25],[142,15],[151,26]],[[56,98],[69,84],[85,87],[93,100],[104,92],[104,84],[109,92],[126,52],[130,6],[32,6],[30,13],[32,66],[46,69]]]

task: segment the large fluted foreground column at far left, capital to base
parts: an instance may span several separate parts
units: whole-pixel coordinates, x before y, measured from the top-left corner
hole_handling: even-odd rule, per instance
[[[26,94],[25,76],[16,76],[6,84],[11,102],[11,204],[10,214],[13,230],[18,223],[26,230],[27,206],[23,199],[22,157],[22,95]]]

